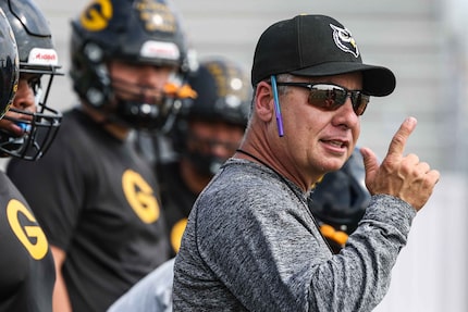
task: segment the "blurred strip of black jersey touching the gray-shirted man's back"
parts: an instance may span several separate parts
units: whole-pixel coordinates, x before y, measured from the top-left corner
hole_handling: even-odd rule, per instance
[[[158,177],[161,180],[162,209],[171,239],[172,255],[175,255],[187,224],[188,214],[190,214],[198,195],[194,194],[184,183],[177,161],[160,165]]]

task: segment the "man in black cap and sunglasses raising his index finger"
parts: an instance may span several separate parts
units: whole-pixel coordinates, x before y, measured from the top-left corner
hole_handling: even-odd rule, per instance
[[[253,114],[241,149],[195,203],[175,258],[174,311],[371,311],[439,172],[403,157],[407,118],[381,166],[361,148],[371,202],[334,255],[307,207],[343,166],[370,96],[393,73],[362,64],[348,29],[323,15],[270,26],[254,55]]]

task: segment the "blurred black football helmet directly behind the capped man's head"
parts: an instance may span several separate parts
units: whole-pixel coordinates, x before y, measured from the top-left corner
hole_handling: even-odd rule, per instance
[[[213,175],[225,159],[187,149],[187,142],[197,139],[189,130],[189,122],[224,122],[245,128],[250,110],[251,87],[243,67],[224,58],[200,60],[198,71],[189,75],[187,82],[197,97],[185,101],[177,115],[172,136],[174,149],[182,157],[189,158],[198,172]]]

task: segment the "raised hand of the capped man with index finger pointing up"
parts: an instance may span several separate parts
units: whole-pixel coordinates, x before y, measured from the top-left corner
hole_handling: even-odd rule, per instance
[[[379,166],[375,154],[361,148],[366,167],[366,186],[370,194],[387,194],[401,198],[419,211],[428,201],[440,173],[420,162],[416,154],[403,155],[406,141],[416,127],[416,118],[408,117],[394,135],[386,157]]]

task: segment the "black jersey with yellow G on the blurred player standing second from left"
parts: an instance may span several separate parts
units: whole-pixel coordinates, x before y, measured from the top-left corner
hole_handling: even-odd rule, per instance
[[[75,109],[48,153],[10,162],[50,244],[66,252],[62,272],[74,311],[104,311],[170,257],[151,166]]]

